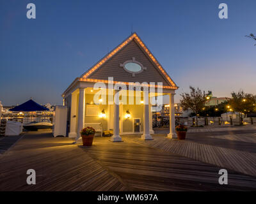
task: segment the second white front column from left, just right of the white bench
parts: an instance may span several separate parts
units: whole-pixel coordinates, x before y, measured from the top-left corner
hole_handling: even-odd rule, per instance
[[[121,142],[122,138],[119,135],[119,91],[114,91],[114,129],[111,142]]]

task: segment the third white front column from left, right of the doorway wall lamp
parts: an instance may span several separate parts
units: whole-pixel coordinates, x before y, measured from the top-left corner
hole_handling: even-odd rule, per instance
[[[149,110],[148,110],[148,90],[143,90],[144,101],[144,120],[143,120],[143,135],[141,139],[152,140],[152,136],[149,134]]]

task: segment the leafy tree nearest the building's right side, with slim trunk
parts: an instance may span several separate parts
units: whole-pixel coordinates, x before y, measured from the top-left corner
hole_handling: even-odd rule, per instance
[[[198,113],[204,108],[205,97],[202,91],[189,86],[190,93],[182,93],[180,96],[180,106],[183,110],[191,109],[196,114],[196,126],[198,126]]]

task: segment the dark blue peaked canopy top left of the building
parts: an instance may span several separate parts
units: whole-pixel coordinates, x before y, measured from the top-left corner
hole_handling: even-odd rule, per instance
[[[33,111],[46,111],[46,110],[49,110],[49,109],[39,105],[32,99],[30,99],[25,103],[22,103],[19,106],[16,106],[10,109],[10,111],[14,111],[14,112],[33,112]]]

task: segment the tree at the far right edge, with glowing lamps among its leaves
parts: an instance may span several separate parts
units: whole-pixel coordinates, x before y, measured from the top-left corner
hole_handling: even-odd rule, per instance
[[[239,124],[242,124],[242,114],[240,116],[240,113],[244,113],[244,116],[248,112],[255,111],[255,104],[256,104],[256,96],[253,94],[245,93],[243,90],[239,92],[232,92],[231,93],[232,99],[230,99],[229,103],[232,109],[236,112],[239,112]]]

